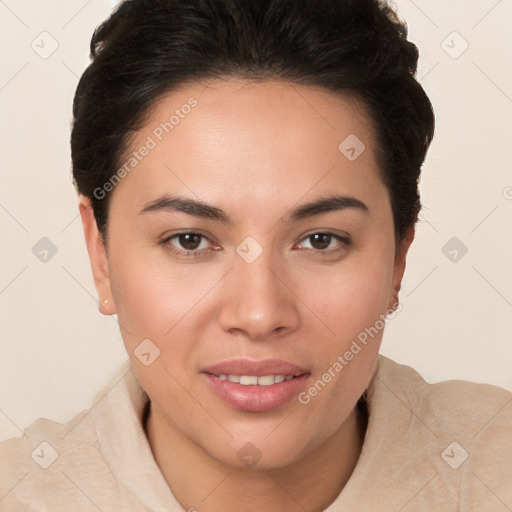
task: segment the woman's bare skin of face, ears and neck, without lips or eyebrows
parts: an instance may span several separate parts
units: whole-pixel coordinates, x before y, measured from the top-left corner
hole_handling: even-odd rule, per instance
[[[107,248],[80,198],[100,311],[118,315],[151,399],[153,454],[185,510],[321,511],[359,457],[365,432],[354,407],[382,331],[307,405],[294,398],[267,412],[234,409],[201,369],[278,358],[308,369],[307,390],[397,302],[414,229],[396,244],[372,123],[355,99],[282,81],[189,84],[160,99],[131,150],[190,97],[197,107],[112,192]],[[350,134],[366,146],[353,162],[338,150]],[[166,193],[220,208],[231,223],[140,213]],[[287,220],[333,193],[368,210]],[[211,240],[199,239],[196,257],[178,254],[191,248],[183,238],[164,241],[189,230]],[[315,241],[315,233],[349,234],[351,243]],[[253,263],[236,252],[248,236],[263,248]],[[134,350],[147,338],[160,356],[144,366]],[[260,455],[251,467],[237,456],[246,443]]]

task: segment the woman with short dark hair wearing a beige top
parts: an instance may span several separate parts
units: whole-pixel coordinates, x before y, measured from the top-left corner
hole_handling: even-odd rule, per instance
[[[1,445],[1,510],[512,506],[511,394],[379,355],[434,129],[393,11],[124,1],[91,52],[73,172],[130,361]]]

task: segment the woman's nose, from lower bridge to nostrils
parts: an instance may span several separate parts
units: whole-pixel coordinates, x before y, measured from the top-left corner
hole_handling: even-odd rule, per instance
[[[223,282],[219,322],[223,330],[252,341],[275,339],[300,325],[293,283],[263,255],[248,264],[241,258]]]

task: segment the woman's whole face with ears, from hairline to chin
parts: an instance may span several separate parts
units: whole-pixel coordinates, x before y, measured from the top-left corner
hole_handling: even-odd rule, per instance
[[[233,466],[299,460],[367,386],[382,329],[362,333],[404,270],[370,118],[319,88],[211,81],[163,97],[133,151],[107,252],[86,234],[155,414]]]

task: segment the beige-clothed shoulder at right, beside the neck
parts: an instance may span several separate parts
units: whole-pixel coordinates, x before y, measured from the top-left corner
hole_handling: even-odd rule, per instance
[[[369,410],[367,457],[380,464],[365,468],[373,482],[382,482],[377,494],[389,496],[393,483],[389,499],[398,506],[422,489],[414,498],[421,511],[512,503],[511,392],[462,380],[431,384],[379,356]]]

